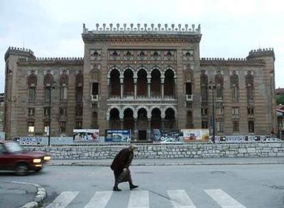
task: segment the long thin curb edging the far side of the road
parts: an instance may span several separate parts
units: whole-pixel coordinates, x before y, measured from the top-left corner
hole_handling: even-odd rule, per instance
[[[131,166],[226,166],[226,165],[268,165],[268,164],[284,164],[284,161],[261,161],[261,162],[189,162],[189,163],[151,163],[151,164],[132,164]],[[58,163],[58,164],[46,164],[46,166],[103,166],[109,167],[110,164],[107,163]]]

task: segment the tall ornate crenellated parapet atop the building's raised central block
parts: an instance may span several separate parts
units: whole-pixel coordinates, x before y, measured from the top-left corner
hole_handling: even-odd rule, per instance
[[[158,38],[157,38],[158,37]],[[182,37],[182,38],[181,38]],[[89,30],[83,24],[82,38],[84,42],[94,42],[94,41],[173,41],[176,38],[177,41],[187,41],[187,42],[199,42],[201,38],[200,25],[175,25],[175,24],[165,24],[165,25],[154,25],[154,24],[130,24],[126,23],[120,25],[115,24],[96,24],[95,29]],[[123,40],[119,40],[123,38]],[[181,40],[178,40],[181,39]]]

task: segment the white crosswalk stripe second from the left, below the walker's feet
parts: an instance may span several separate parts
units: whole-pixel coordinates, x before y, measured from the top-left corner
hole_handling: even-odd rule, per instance
[[[113,192],[96,192],[84,208],[104,208]]]

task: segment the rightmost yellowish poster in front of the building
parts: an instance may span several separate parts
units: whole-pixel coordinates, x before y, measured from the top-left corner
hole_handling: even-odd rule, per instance
[[[183,142],[208,142],[209,129],[182,129]]]

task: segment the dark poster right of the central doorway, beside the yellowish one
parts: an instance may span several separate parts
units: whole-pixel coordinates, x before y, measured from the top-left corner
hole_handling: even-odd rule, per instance
[[[150,138],[153,142],[165,142],[166,140],[180,141],[178,129],[151,129]]]

